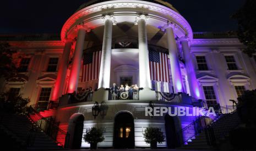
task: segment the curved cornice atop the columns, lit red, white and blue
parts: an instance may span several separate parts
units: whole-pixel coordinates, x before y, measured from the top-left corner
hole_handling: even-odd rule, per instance
[[[83,21],[85,25],[92,29],[102,26],[99,23],[101,19],[100,14],[108,13],[115,13],[115,18],[117,20],[120,19],[122,22],[134,22],[130,20],[130,17],[138,13],[149,14],[150,20],[147,21],[147,24],[155,27],[159,27],[161,26],[159,24],[162,24],[162,22],[170,20],[177,25],[179,37],[188,35],[189,38],[193,38],[192,28],[186,19],[176,11],[156,3],[121,0],[96,3],[75,12],[63,25],[61,38],[64,39],[66,33],[68,33],[68,36],[72,34],[73,27],[78,25],[80,21]]]

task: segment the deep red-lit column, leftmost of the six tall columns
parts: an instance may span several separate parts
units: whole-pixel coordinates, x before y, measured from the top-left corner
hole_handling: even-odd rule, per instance
[[[66,74],[68,69],[70,49],[72,47],[72,44],[73,44],[73,40],[71,39],[65,40],[65,46],[61,56],[61,60],[59,61],[57,79],[56,79],[55,88],[53,90],[52,99],[51,99],[53,101],[57,101],[58,97],[60,97],[63,94],[64,85],[66,81]]]

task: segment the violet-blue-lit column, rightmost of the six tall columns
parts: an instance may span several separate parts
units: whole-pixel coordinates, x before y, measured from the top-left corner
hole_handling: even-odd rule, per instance
[[[197,98],[202,98],[201,93],[200,93],[200,88],[199,84],[197,81],[196,77],[196,72],[195,72],[195,66],[193,63],[193,57],[190,54],[189,50],[189,45],[188,45],[188,38],[187,37],[181,37],[179,38],[181,45],[182,45],[182,50],[183,50],[183,55],[184,55],[184,60],[185,60],[185,67],[188,75],[188,83],[189,83],[189,90],[190,90],[190,95],[193,97]]]

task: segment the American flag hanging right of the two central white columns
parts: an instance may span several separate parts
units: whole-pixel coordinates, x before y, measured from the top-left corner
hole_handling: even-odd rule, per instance
[[[150,78],[169,83],[169,68],[167,54],[149,50]]]

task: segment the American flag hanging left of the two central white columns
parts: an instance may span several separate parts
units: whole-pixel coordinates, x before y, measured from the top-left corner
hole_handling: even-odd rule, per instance
[[[81,82],[99,79],[101,51],[84,54]]]

